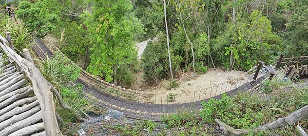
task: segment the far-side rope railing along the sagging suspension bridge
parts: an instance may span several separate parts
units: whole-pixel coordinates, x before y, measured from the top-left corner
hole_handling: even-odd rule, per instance
[[[50,51],[59,52],[62,56],[66,57],[70,63],[73,63],[64,53],[60,51],[55,45],[52,46]],[[42,54],[42,53],[41,53]],[[200,100],[212,98],[223,92],[230,91],[236,87],[243,85],[252,78],[251,72],[254,72],[257,66],[249,69],[241,75],[234,79],[234,81],[223,82],[217,85],[209,86],[207,88],[199,88],[197,90],[183,90],[180,92],[166,92],[166,91],[142,91],[122,88],[114,84],[105,82],[101,77],[91,75],[87,71],[82,69],[80,78],[89,85],[95,87],[95,89],[100,90],[103,93],[113,95],[115,97],[131,100],[141,103],[151,103],[151,104],[179,104],[179,103],[189,103],[197,102]]]

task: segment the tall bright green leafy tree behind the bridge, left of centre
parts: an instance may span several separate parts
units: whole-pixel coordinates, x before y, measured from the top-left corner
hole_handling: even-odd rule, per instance
[[[88,71],[117,84],[117,71],[137,59],[134,37],[143,25],[131,13],[131,1],[94,1],[92,8],[86,21],[93,44]]]

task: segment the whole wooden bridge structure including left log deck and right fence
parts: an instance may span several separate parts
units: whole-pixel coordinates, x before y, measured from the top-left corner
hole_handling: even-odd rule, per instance
[[[0,54],[0,135],[60,135],[53,103],[53,86],[35,67],[28,49],[23,50],[24,57],[17,54],[9,33],[6,38],[0,36],[0,41],[3,51]],[[33,50],[43,59],[52,57],[55,52],[66,57],[56,46],[48,48],[40,38],[34,37],[34,43]],[[239,91],[255,90],[273,76],[280,80],[307,77],[307,63],[308,56],[283,59],[281,55],[275,67],[266,69],[266,66],[261,70],[263,62],[260,61],[258,66],[234,81],[171,95],[122,88],[86,71],[81,72],[78,81],[69,85],[83,84],[86,98],[102,109],[118,110],[127,118],[161,121],[165,115],[182,111],[198,112],[202,108],[201,101],[221,99],[223,93],[234,96]]]

